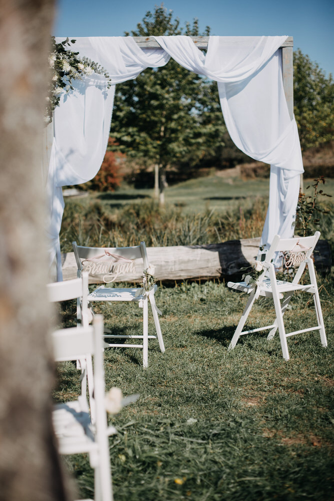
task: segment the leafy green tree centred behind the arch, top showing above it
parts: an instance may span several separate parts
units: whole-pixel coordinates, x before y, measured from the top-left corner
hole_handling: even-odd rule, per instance
[[[179,20],[172,18],[171,11],[156,6],[131,35],[200,36],[196,19],[183,30]],[[203,35],[208,34],[207,27]],[[161,202],[167,166],[194,166],[217,142],[223,142],[225,131],[216,83],[172,59],[163,68],[148,68],[136,80],[116,88],[111,135],[117,139],[118,149],[137,164],[156,166]]]

